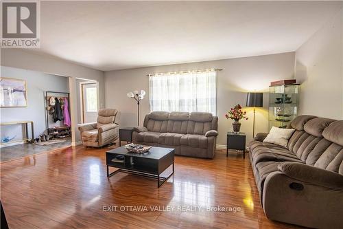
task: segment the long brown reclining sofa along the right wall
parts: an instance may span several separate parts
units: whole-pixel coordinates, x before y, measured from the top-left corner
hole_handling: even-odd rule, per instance
[[[287,148],[250,142],[250,161],[269,219],[310,228],[343,227],[343,120],[298,116]]]

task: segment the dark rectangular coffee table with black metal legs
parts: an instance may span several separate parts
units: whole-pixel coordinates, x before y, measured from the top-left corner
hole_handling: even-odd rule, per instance
[[[124,172],[134,175],[141,175],[157,179],[159,188],[171,175],[174,174],[174,153],[175,149],[152,147],[149,152],[129,153],[124,146],[106,152],[107,176]],[[123,155],[123,160],[118,160],[117,155]],[[173,166],[173,171],[167,177],[161,177],[169,166]],[[108,173],[108,167],[119,168],[113,173]]]

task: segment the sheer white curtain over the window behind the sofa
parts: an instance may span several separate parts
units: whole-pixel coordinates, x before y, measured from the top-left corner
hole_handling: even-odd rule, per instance
[[[151,111],[203,111],[216,115],[217,72],[149,76]]]

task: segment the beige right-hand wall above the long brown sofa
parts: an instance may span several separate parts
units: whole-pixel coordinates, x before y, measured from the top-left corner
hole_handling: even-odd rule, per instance
[[[343,119],[343,10],[296,50],[300,114]]]

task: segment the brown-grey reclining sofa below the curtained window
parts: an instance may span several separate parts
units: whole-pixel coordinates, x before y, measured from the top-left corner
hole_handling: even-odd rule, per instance
[[[154,111],[136,127],[132,140],[137,144],[174,148],[176,155],[213,158],[217,116],[203,112]]]

